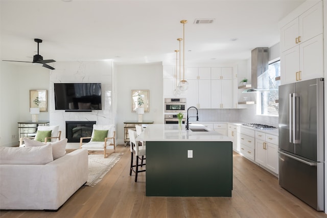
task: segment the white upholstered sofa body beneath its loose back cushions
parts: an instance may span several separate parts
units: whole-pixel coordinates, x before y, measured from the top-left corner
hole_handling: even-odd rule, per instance
[[[42,147],[44,150],[46,146]],[[13,151],[10,150],[12,148],[0,149],[3,154],[9,151],[9,156]],[[40,147],[15,149],[31,151]],[[35,159],[33,155],[31,160]],[[16,156],[18,159],[23,157],[21,154],[15,154]],[[14,161],[3,164],[6,157],[8,154],[0,154],[0,209],[58,210],[87,181],[86,149],[75,150],[55,160],[50,159],[46,164],[15,164]]]

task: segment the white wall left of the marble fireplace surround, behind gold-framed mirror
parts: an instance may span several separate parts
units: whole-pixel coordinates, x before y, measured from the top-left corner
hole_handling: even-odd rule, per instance
[[[0,77],[0,146],[17,146],[19,140],[17,122],[32,119],[29,90],[49,90],[49,69],[32,64],[16,65],[1,62]],[[39,120],[49,120],[49,112],[40,112],[38,117]]]

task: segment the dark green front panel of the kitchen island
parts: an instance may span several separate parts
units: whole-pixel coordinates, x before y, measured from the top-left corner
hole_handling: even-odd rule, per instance
[[[231,197],[231,190],[230,141],[147,141],[146,196]]]

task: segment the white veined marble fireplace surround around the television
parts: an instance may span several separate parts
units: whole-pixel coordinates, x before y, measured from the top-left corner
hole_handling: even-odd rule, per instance
[[[55,62],[50,70],[50,125],[59,125],[61,138],[66,138],[66,121],[96,121],[100,125],[114,124],[112,113],[112,61]],[[55,110],[54,83],[101,83],[102,110],[65,112]],[[74,142],[74,147],[78,142]],[[68,145],[68,144],[67,144]]]

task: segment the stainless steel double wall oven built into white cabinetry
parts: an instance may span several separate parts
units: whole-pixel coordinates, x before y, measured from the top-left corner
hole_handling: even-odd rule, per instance
[[[185,98],[175,98],[175,99],[165,99],[165,124],[178,124],[177,113],[186,113],[186,99]],[[185,118],[182,119],[183,124],[185,123]]]

